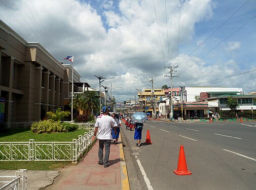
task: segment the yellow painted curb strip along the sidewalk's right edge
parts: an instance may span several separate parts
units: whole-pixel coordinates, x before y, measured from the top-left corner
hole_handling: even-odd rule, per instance
[[[122,142],[121,132],[120,132],[120,140]],[[121,171],[121,186],[124,190],[130,189],[129,179],[128,179],[128,173],[126,169],[126,163],[124,158],[124,150],[123,150],[123,143],[119,144],[120,148],[120,171]]]

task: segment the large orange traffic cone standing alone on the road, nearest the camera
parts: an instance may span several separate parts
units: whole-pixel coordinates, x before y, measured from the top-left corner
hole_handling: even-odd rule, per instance
[[[177,170],[173,170],[176,175],[191,175],[192,172],[188,170],[187,162],[184,153],[183,145],[180,145],[179,156],[178,156],[178,167]]]

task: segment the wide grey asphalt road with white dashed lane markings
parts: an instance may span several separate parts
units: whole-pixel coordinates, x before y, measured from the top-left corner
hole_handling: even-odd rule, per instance
[[[134,131],[122,126],[131,189],[256,189],[255,122],[147,121],[153,144],[136,147]],[[179,176],[179,148],[184,146],[188,170]]]

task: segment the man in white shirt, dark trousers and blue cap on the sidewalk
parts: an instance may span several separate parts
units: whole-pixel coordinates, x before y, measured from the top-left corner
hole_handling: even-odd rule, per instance
[[[98,118],[95,123],[94,137],[97,135],[99,139],[99,150],[98,150],[98,164],[104,165],[104,168],[109,166],[109,152],[110,152],[110,144],[111,144],[111,127],[114,128],[114,133],[116,134],[117,123],[115,120],[109,116],[109,108],[107,106],[102,107],[103,115],[101,118]],[[105,156],[103,161],[103,148],[105,145]]]

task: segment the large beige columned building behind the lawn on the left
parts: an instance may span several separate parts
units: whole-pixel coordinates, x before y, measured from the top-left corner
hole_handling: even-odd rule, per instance
[[[1,20],[0,63],[0,122],[38,121],[47,111],[63,109],[69,88],[65,67]]]

